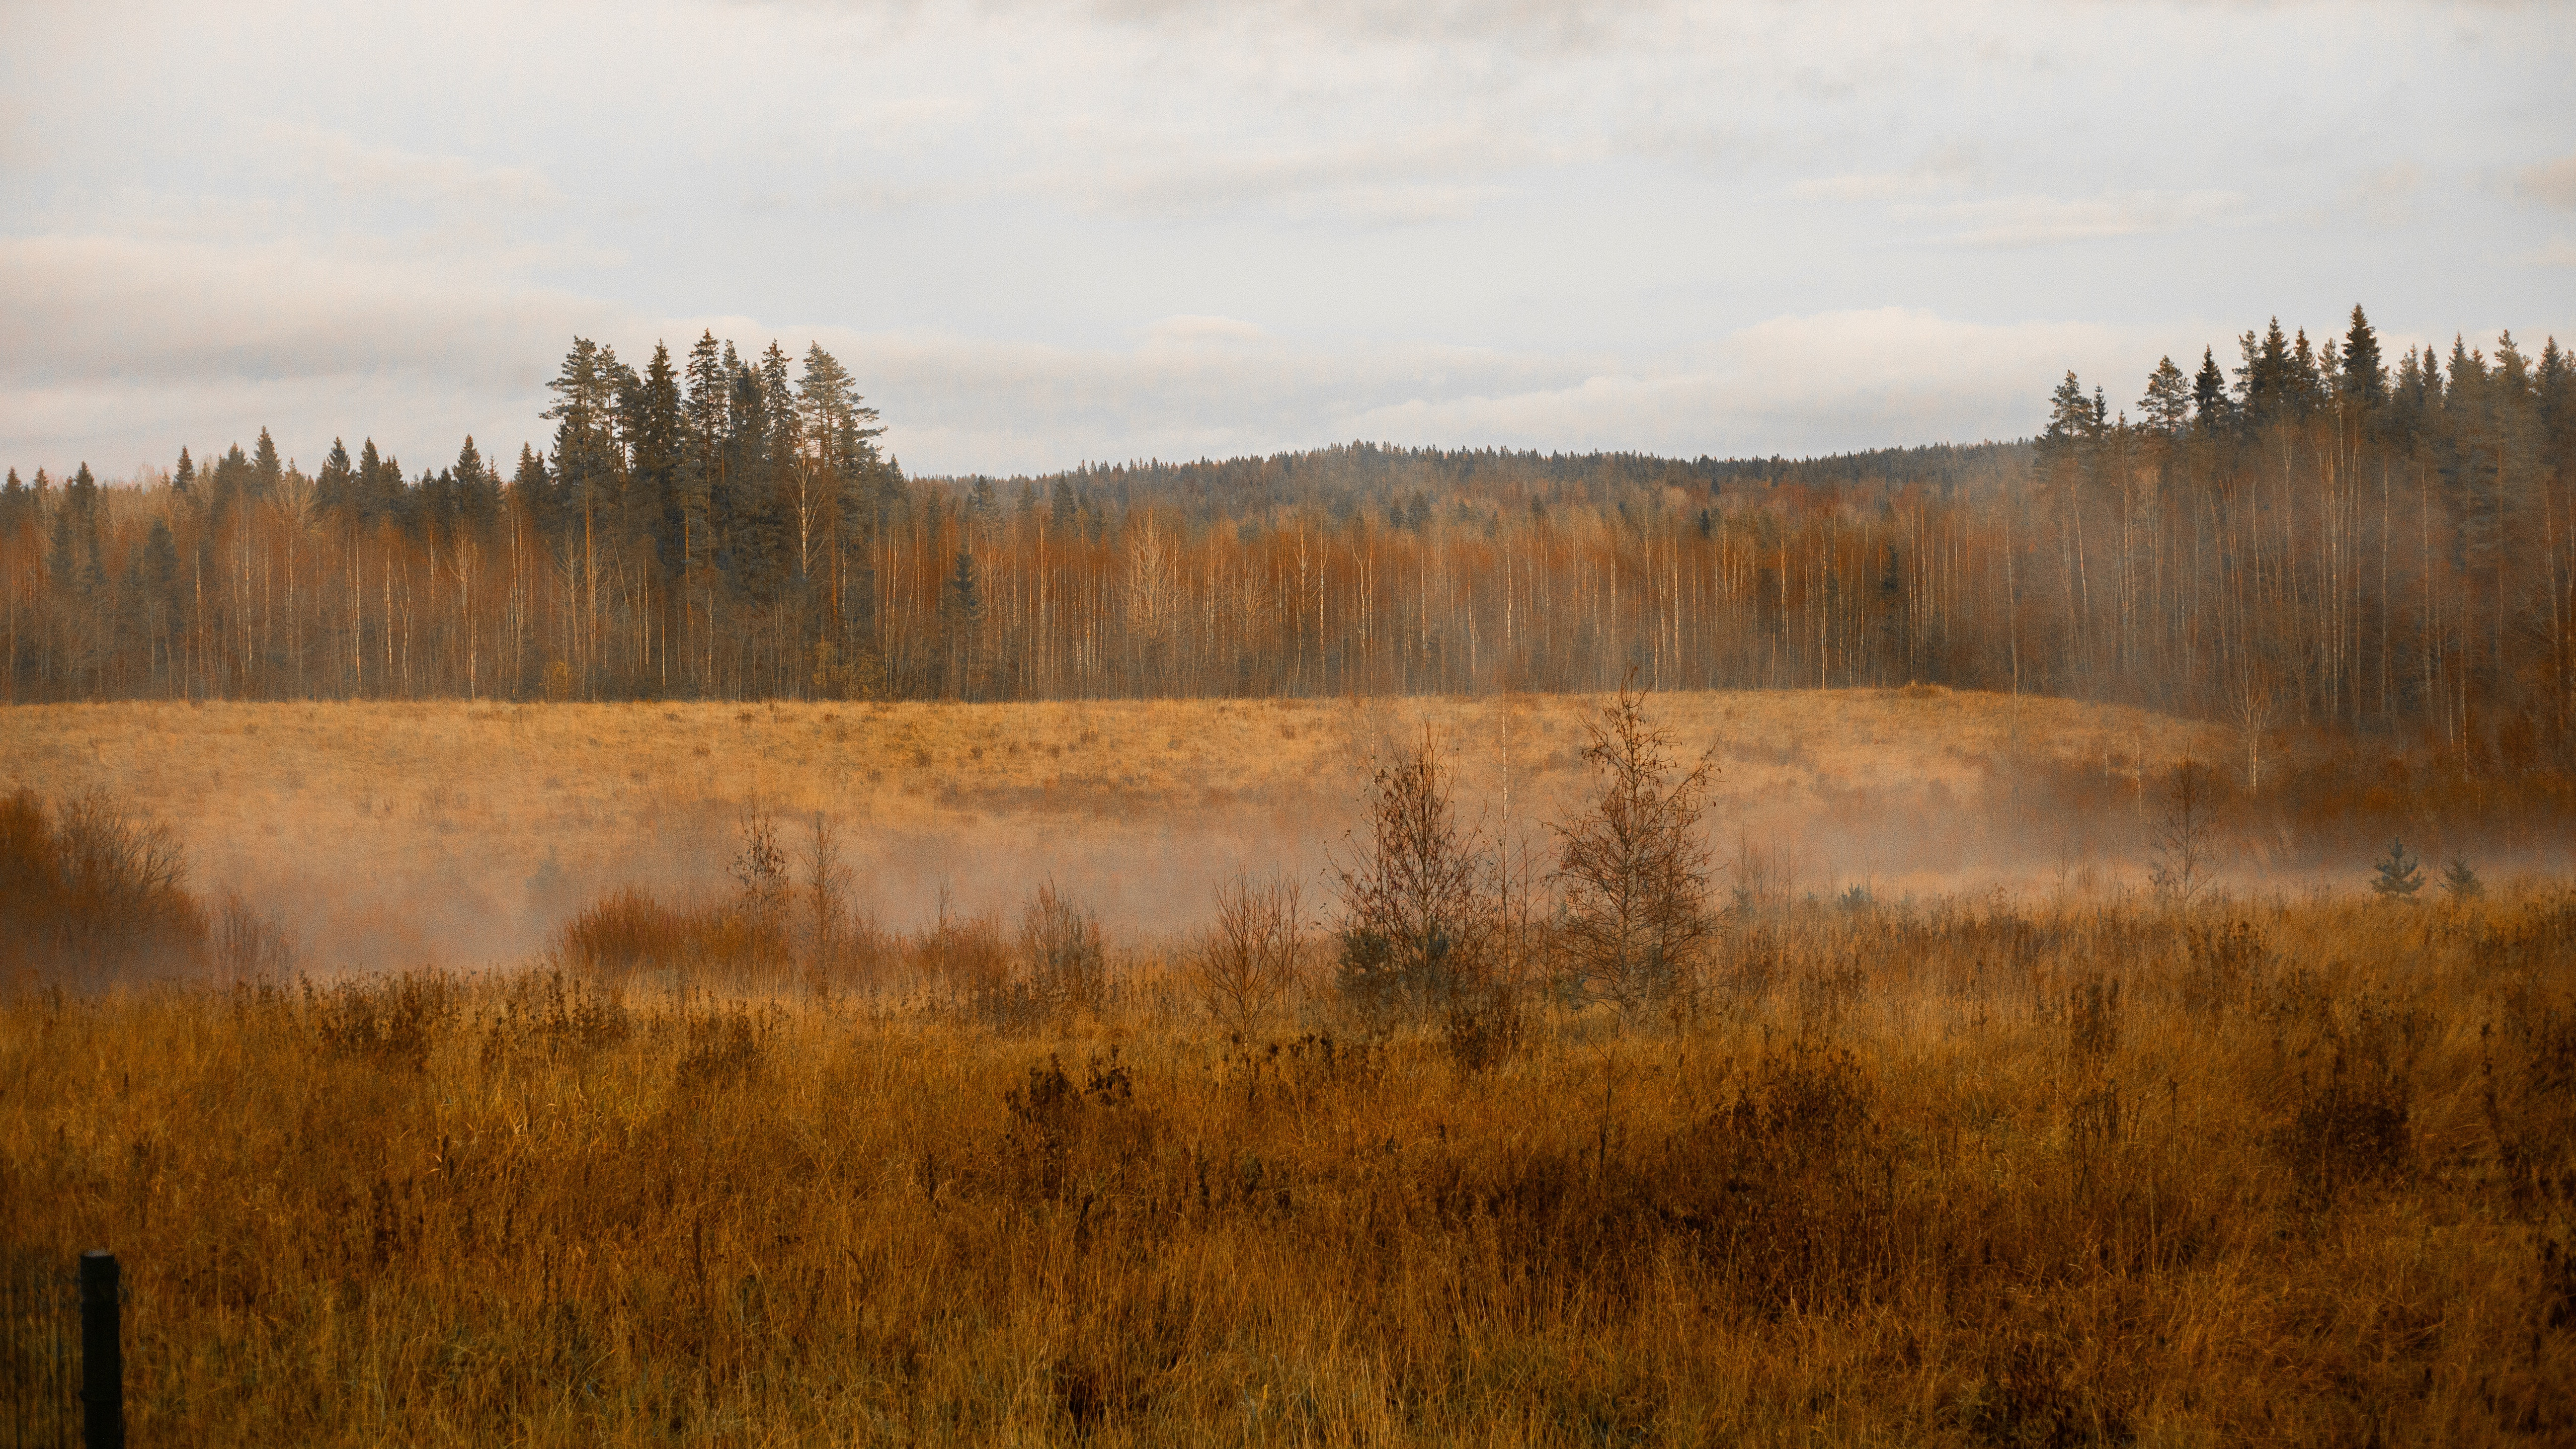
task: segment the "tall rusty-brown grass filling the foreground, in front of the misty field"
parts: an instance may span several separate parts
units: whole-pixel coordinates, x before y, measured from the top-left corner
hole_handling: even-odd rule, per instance
[[[144,1444],[2566,1441],[2571,959],[2566,892],[1757,902],[1484,1070],[1146,959],[15,995],[0,1222],[124,1256]]]

